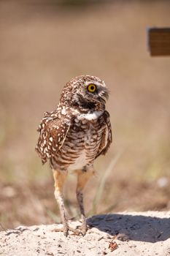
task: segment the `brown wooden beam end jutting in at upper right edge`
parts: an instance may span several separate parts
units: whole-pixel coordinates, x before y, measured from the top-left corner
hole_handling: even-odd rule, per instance
[[[170,56],[170,28],[148,29],[148,45],[151,56]]]

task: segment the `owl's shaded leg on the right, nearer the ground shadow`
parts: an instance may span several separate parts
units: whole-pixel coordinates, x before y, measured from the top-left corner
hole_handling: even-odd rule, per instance
[[[85,185],[87,184],[89,178],[94,175],[94,170],[80,170],[77,172],[77,189],[76,189],[76,195],[77,195],[77,202],[80,207],[80,213],[82,217],[82,226],[80,227],[82,230],[82,234],[85,235],[87,231],[87,224],[86,224],[86,218],[85,218],[85,209],[83,206],[83,189],[85,188]]]

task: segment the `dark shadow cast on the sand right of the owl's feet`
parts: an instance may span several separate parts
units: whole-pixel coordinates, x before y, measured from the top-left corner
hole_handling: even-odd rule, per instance
[[[170,237],[170,218],[131,214],[104,214],[88,218],[90,228],[96,227],[118,239],[155,243]]]

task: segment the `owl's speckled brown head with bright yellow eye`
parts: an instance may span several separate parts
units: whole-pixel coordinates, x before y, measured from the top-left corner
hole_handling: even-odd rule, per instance
[[[105,109],[109,91],[104,81],[96,76],[81,75],[72,78],[63,88],[61,104],[85,110]]]

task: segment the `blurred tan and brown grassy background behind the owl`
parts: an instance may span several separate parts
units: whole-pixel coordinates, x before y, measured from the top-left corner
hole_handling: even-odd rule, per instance
[[[169,10],[163,0],[0,1],[2,227],[60,220],[52,171],[34,151],[36,128],[82,74],[107,83],[114,138],[85,189],[87,214],[170,210],[170,58],[147,49],[147,28],[170,26]],[[75,187],[70,175],[71,217]]]

